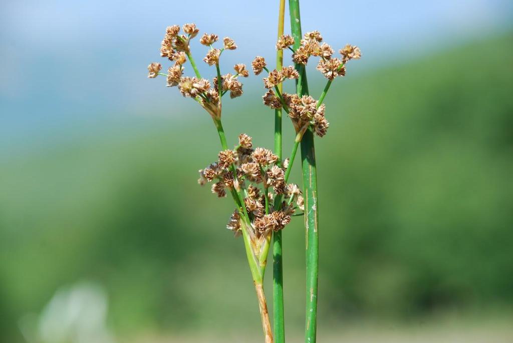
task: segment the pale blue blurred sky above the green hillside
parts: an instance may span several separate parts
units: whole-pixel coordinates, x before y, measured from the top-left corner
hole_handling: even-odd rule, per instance
[[[303,31],[321,31],[336,48],[348,42],[362,48],[364,58],[354,73],[508,30],[513,18],[510,0],[302,1],[301,6]],[[120,113],[162,112],[179,96],[163,82],[146,79],[146,66],[162,61],[160,41],[171,24],[194,22],[201,32],[235,39],[239,49],[225,55],[226,68],[248,65],[255,55],[272,60],[277,7],[277,1],[4,0],[0,145],[27,141],[37,132],[58,136],[74,123]],[[204,49],[195,48],[202,52],[196,56],[202,70],[211,74],[201,62]]]

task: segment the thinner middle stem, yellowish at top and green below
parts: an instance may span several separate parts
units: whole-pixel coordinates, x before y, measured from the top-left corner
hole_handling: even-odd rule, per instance
[[[285,17],[285,0],[280,0],[280,10],[278,15],[278,38],[283,35],[283,24]],[[276,69],[283,68],[283,50],[276,53]],[[278,85],[278,91],[281,94],[282,83]],[[297,150],[297,148],[296,148]],[[282,110],[274,111],[274,154],[282,160]],[[290,170],[287,168],[286,173]],[[287,182],[287,181],[285,181]],[[285,343],[285,315],[283,305],[283,242],[282,230],[274,232],[274,241],[272,244],[272,297],[273,297],[273,324],[274,339],[277,343]]]

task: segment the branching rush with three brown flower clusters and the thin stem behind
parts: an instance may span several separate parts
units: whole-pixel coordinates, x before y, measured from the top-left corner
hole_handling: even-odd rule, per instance
[[[213,194],[219,198],[228,196],[233,201],[235,209],[231,213],[226,227],[233,232],[235,237],[242,237],[244,242],[249,269],[257,293],[266,343],[285,341],[281,230],[290,223],[292,217],[303,215],[308,228],[307,211],[310,204],[297,184],[288,183],[290,170],[303,137],[308,134],[323,137],[326,134],[329,123],[325,118],[326,107],[323,100],[331,82],[334,78],[345,75],[345,63],[349,59],[360,58],[360,50],[350,45],[340,51],[341,58],[333,57],[333,49],[322,42],[322,36],[318,31],[308,32],[300,39],[297,35],[284,35],[283,13],[284,0],[280,4],[279,38],[276,44],[277,68],[269,71],[265,59],[260,56],[255,57],[251,63],[251,69],[255,75],[260,75],[265,71],[263,82],[267,92],[263,96],[263,102],[275,110],[275,152],[264,147],[254,147],[252,138],[244,133],[238,136],[238,142],[233,148],[228,147],[222,124],[223,97],[227,93],[230,98],[242,96],[243,84],[240,78],[249,76],[246,66],[242,63],[233,66],[233,71],[230,73],[221,73],[220,59],[223,53],[226,50],[237,48],[231,38],[225,37],[219,41],[219,36],[212,33],[204,33],[199,38],[201,44],[207,47],[203,61],[209,66],[215,67],[212,80],[201,76],[192,56],[189,42],[199,35],[199,29],[194,24],[185,24],[182,28],[173,25],[166,29],[160,53],[161,57],[165,57],[173,63],[167,69],[167,73],[161,72],[161,63],[154,62],[148,66],[149,78],[165,76],[168,87],[176,87],[184,97],[198,102],[212,118],[219,134],[221,151],[213,163],[200,169],[198,183],[200,185],[210,183]],[[292,32],[294,33],[293,27]],[[295,32],[297,33],[297,30]],[[294,66],[282,67],[282,56],[285,49],[292,51]],[[311,56],[319,57],[317,69],[328,79],[318,100],[304,92],[307,89],[304,66]],[[187,62],[193,70],[193,76],[185,75]],[[282,84],[288,80],[296,82],[297,94],[282,92]],[[290,118],[295,131],[292,151],[286,159],[281,158],[282,110]],[[267,255],[273,234],[277,236],[273,247],[276,340],[273,338],[263,287]],[[318,249],[314,253],[318,253]],[[318,259],[314,259],[314,261],[318,261]],[[312,267],[317,270],[317,266],[312,265],[312,262],[308,260],[307,253],[307,275]],[[307,298],[314,295],[317,299],[317,274],[314,276],[315,294],[307,288]],[[314,312],[314,315],[317,316],[317,300],[314,305],[315,311],[310,312]],[[307,310],[310,308],[311,306],[309,307],[307,304]],[[307,323],[311,326],[312,320],[308,322],[308,315],[309,313],[307,313]],[[315,323],[316,321],[313,321],[314,325]],[[311,336],[307,337],[307,342],[314,340],[314,336],[313,339]]]

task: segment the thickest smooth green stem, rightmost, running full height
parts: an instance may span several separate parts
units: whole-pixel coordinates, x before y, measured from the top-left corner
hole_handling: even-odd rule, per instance
[[[289,0],[290,27],[295,39],[294,50],[299,48],[301,40],[301,16],[299,0]],[[299,96],[308,94],[308,84],[304,66],[295,66],[300,73],[297,83]],[[319,278],[319,235],[318,235],[318,199],[317,170],[315,168],[315,147],[313,132],[308,128],[301,140],[301,159],[303,169],[303,188],[305,199],[306,229],[306,318],[305,343],[315,343],[317,339],[317,285]]]

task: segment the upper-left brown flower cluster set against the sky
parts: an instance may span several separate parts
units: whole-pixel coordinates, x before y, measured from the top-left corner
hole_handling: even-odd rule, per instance
[[[214,119],[221,117],[220,98],[227,92],[230,97],[235,98],[243,94],[242,83],[237,79],[239,76],[247,77],[249,75],[246,66],[237,64],[233,67],[236,74],[226,74],[222,76],[222,90],[218,88],[218,80],[213,79],[213,87],[208,79],[199,77],[196,69],[196,76],[184,76],[184,64],[188,58],[191,58],[189,42],[200,32],[195,24],[185,24],[182,27],[184,34],[180,34],[181,28],[178,25],[169,26],[161,43],[161,56],[174,61],[174,65],[167,70],[167,87],[177,86],[180,93],[185,97],[194,98]],[[237,48],[233,39],[225,37],[223,39],[223,49],[215,49],[212,45],[219,40],[219,36],[213,33],[204,33],[200,38],[202,45],[210,47],[207,55],[203,59],[210,66],[218,66],[219,58],[224,50],[234,50]],[[192,64],[192,61],[191,61]],[[162,69],[162,65],[153,62],[148,66],[148,77],[157,77]]]

